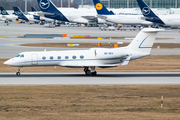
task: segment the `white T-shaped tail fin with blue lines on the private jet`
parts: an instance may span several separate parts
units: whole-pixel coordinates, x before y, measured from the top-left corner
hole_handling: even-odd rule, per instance
[[[150,53],[153,43],[155,41],[156,35],[160,31],[165,31],[164,29],[155,28],[144,28],[134,40],[129,44],[129,49],[138,52]]]

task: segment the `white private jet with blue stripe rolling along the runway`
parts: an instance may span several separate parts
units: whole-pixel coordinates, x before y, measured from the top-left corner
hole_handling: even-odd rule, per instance
[[[157,32],[162,29],[145,28],[126,47],[91,48],[89,50],[22,52],[4,62],[5,65],[19,67],[62,66],[84,68],[86,75],[96,75],[95,68],[127,65],[130,60],[150,55]],[[121,63],[121,64],[118,64]],[[90,70],[89,70],[90,68]]]

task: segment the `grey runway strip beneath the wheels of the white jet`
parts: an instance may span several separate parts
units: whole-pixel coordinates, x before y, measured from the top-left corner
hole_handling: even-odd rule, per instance
[[[84,73],[0,73],[3,85],[180,85],[179,72]]]

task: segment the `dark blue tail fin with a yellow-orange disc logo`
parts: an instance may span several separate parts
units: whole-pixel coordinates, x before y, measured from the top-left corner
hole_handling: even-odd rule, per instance
[[[98,15],[114,15],[114,13],[109,12],[109,10],[107,10],[107,8],[99,0],[93,0],[93,3]]]

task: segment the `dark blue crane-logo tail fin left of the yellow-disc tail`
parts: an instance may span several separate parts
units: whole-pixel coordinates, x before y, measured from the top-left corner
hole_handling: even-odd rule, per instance
[[[53,15],[45,15],[45,17],[69,22],[69,20],[57,9],[51,0],[37,0],[37,2],[41,11],[53,13]]]

